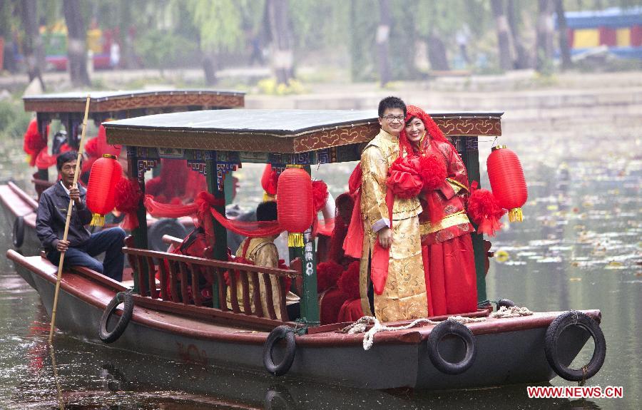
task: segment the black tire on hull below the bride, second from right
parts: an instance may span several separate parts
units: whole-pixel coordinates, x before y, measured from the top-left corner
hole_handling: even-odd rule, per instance
[[[449,334],[459,337],[466,345],[466,354],[461,362],[447,362],[447,360],[439,354],[439,342]],[[455,322],[454,320],[444,320],[444,322],[437,324],[430,332],[427,344],[430,362],[432,362],[432,365],[437,368],[437,370],[445,374],[464,373],[464,371],[470,369],[477,357],[477,343],[472,332],[466,325]]]

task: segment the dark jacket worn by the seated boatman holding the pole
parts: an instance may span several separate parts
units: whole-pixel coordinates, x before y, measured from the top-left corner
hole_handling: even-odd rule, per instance
[[[80,190],[81,205],[74,204],[67,232],[67,240],[71,247],[82,245],[91,236],[85,229],[85,225],[91,222],[91,211],[85,205],[87,190],[81,185],[78,185],[78,190]],[[65,233],[68,207],[69,195],[60,181],[40,195],[36,212],[36,235],[46,252],[55,250],[58,240],[61,240]]]

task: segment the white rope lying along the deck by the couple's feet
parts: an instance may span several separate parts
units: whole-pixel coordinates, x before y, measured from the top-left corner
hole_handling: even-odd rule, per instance
[[[513,306],[513,307],[506,308],[505,306],[502,306],[499,308],[497,312],[491,313],[489,317],[491,317],[492,319],[504,319],[506,317],[530,316],[531,314],[533,314],[533,312],[531,312],[527,307]],[[448,317],[446,320],[459,322],[461,324],[467,324],[467,323],[474,323],[474,322],[485,322],[486,317],[451,316],[451,317]],[[435,322],[430,319],[417,319],[405,326],[386,326],[384,324],[381,324],[381,322],[379,322],[379,319],[377,319],[376,317],[364,316],[359,320],[357,320],[357,322],[344,327],[343,329],[341,329],[341,331],[347,334],[357,334],[357,333],[365,332],[365,335],[363,336],[363,349],[370,350],[370,348],[374,344],[374,334],[377,334],[379,332],[391,332],[393,330],[407,330],[407,329],[410,329],[411,327],[417,326],[418,324],[439,324],[439,323],[442,323],[442,321]],[[370,324],[372,324],[372,327],[370,328],[370,330],[366,332],[366,329],[368,326],[370,326]]]

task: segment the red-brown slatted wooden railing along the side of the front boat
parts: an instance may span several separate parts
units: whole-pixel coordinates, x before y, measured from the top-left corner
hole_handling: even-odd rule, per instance
[[[295,269],[280,269],[136,247],[123,247],[123,252],[133,268],[133,275],[136,275],[141,297],[203,308],[207,309],[209,316],[256,324],[289,322],[285,305],[286,280],[288,277],[296,280],[302,276],[301,265],[296,260],[291,265]],[[158,287],[157,273],[160,282]],[[263,295],[260,282],[265,286],[267,312],[263,311],[261,303]],[[203,283],[215,284],[209,287],[216,296],[211,301],[201,292],[203,286],[199,284]],[[205,285],[207,288],[208,285]]]

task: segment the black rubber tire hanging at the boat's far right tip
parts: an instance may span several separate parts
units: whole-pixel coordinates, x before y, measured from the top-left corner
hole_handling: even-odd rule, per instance
[[[588,334],[593,337],[595,348],[593,349],[593,356],[591,360],[581,369],[571,369],[560,363],[558,354],[559,337],[568,327],[579,326],[585,329]],[[591,317],[577,311],[565,312],[555,318],[548,329],[546,329],[546,336],[544,337],[544,352],[546,352],[546,360],[555,371],[555,373],[562,379],[569,381],[581,381],[590,379],[601,369],[606,358],[606,339],[600,325]],[[586,373],[584,372],[586,368]]]

